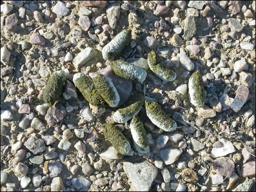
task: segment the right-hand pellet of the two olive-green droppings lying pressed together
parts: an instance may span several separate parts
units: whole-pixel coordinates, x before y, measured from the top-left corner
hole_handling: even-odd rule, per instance
[[[93,84],[97,92],[99,92],[100,96],[110,107],[117,107],[120,101],[120,96],[111,79],[98,73],[93,77]]]

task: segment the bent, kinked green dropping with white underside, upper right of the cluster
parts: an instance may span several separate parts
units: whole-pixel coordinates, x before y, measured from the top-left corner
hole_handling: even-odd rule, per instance
[[[163,64],[162,58],[156,54],[155,51],[151,51],[148,54],[148,64],[151,71],[162,80],[168,82],[176,79],[176,73],[171,70],[168,66]]]

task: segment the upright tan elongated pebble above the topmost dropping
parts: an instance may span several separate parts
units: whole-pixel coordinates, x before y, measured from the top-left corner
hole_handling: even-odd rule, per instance
[[[112,29],[117,28],[117,21],[120,17],[120,12],[121,8],[117,4],[110,5],[106,10],[108,24]]]

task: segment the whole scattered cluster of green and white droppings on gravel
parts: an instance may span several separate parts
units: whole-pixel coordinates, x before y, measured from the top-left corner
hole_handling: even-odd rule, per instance
[[[114,56],[118,56],[130,41],[131,30],[123,30],[103,47],[103,59],[108,60],[112,59]],[[95,52],[94,49],[89,49],[91,49],[91,52]],[[96,53],[94,55],[96,55]],[[86,63],[86,61],[80,62],[80,64],[76,66],[76,69],[79,70],[80,65],[83,63]],[[162,80],[172,83],[172,81],[176,79],[175,71],[167,65],[164,65],[163,59],[160,55],[157,55],[154,50],[148,54],[148,65],[150,70]],[[147,77],[147,71],[145,71],[143,67],[127,63],[123,60],[111,61],[111,68],[115,75],[135,82],[143,83]],[[56,104],[63,94],[65,78],[64,71],[56,71],[52,73],[52,76],[48,79],[43,95],[44,101],[48,103],[49,106]],[[73,83],[81,92],[84,99],[93,106],[103,106],[107,104],[112,108],[118,107],[120,96],[112,80],[106,75],[94,72],[88,76],[86,73],[78,72],[73,76]],[[188,96],[194,107],[200,108],[204,106],[205,90],[199,70],[194,72],[188,80]],[[138,113],[143,107],[145,107],[146,114],[151,122],[163,131],[171,132],[177,128],[176,122],[164,113],[160,104],[144,96],[143,92],[134,93],[124,106],[125,107],[117,109],[112,117],[117,123],[125,123],[131,120],[130,129],[133,146],[139,155],[149,157],[147,133],[142,120],[139,119],[138,116]],[[120,154],[130,154],[130,142],[118,126],[112,123],[106,123],[103,126],[103,135]]]

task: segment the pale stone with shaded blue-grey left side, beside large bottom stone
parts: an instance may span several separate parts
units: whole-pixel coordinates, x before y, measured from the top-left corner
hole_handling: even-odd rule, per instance
[[[176,160],[179,159],[182,150],[176,148],[166,148],[160,151],[160,156],[166,165],[172,165]]]

